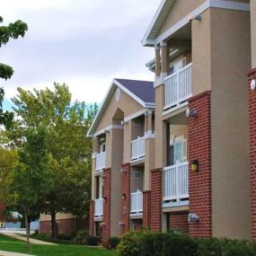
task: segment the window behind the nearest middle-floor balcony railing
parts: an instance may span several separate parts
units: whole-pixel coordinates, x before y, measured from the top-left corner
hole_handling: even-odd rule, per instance
[[[187,139],[177,137],[168,148],[168,166],[187,161]]]

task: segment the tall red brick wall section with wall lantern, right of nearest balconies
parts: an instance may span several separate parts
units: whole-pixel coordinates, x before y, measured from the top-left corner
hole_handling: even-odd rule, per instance
[[[189,160],[199,160],[199,172],[190,170],[190,213],[199,216],[199,223],[190,224],[196,237],[212,235],[211,205],[211,116],[210,92],[200,93],[189,101],[197,116],[189,118]]]

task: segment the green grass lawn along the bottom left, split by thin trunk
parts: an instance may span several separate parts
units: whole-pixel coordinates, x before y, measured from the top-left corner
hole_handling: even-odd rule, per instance
[[[0,250],[22,253],[29,252],[27,243],[3,234],[0,234]],[[115,251],[71,244],[32,244],[32,254],[37,256],[117,256]]]

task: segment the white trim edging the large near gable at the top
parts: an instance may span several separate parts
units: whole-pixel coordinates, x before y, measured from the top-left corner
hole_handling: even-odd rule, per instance
[[[163,8],[163,3],[160,5],[159,8]],[[159,44],[161,41],[166,40],[167,38],[171,37],[173,33],[176,31],[179,31],[183,26],[188,24],[190,22],[191,15],[200,15],[201,13],[204,13],[208,8],[215,7],[215,8],[221,8],[221,9],[228,9],[228,10],[234,10],[234,11],[244,11],[244,12],[250,12],[250,4],[244,4],[244,3],[237,3],[233,1],[224,1],[224,0],[207,0],[204,4],[201,4],[198,8],[193,10],[191,13],[189,13],[187,16],[185,16],[183,19],[181,19],[180,22],[175,23],[169,30],[164,31],[163,34],[155,38],[154,40],[146,40],[146,37],[149,35],[150,31],[152,30],[154,26],[154,22],[157,22],[157,18],[153,20],[153,25],[151,25],[149,32],[146,33],[146,37],[143,40],[143,45],[155,45]],[[159,11],[159,13],[161,10]]]

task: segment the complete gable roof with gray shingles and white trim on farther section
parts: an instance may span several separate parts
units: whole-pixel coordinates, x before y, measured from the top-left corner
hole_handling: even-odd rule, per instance
[[[102,119],[102,115],[104,114],[104,111],[112,98],[112,95],[115,93],[115,89],[118,87],[123,92],[128,93],[128,95],[138,102],[142,108],[154,108],[153,82],[114,78],[102,102],[102,106],[93,120],[93,124],[89,129],[87,136],[93,136],[94,130],[97,128],[100,120]]]

